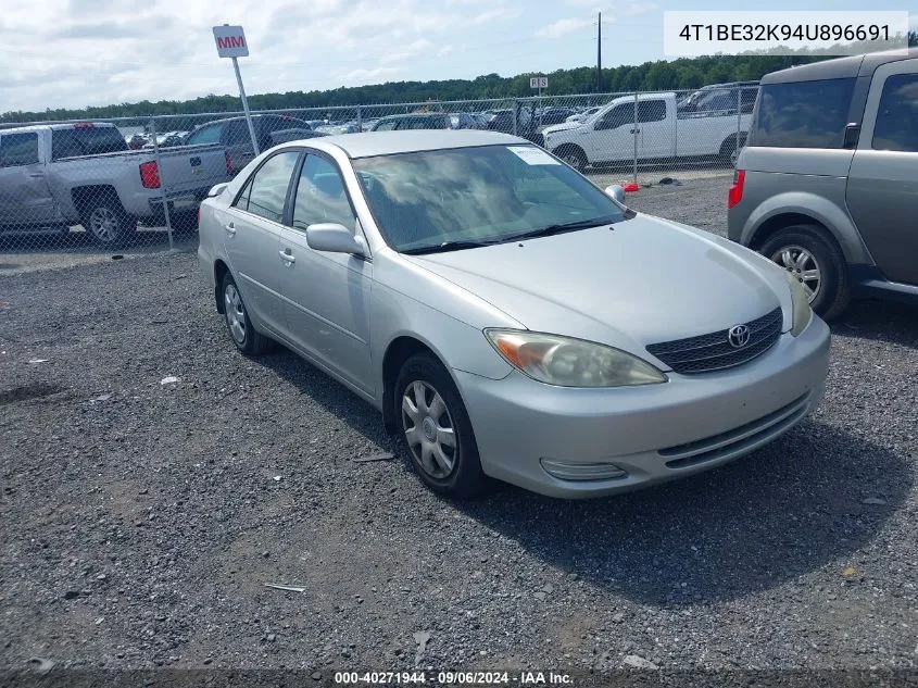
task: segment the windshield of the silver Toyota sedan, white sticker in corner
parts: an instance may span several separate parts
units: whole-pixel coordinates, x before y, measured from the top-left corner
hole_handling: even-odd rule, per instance
[[[353,164],[377,224],[401,252],[495,243],[626,218],[620,205],[535,146],[377,155]]]

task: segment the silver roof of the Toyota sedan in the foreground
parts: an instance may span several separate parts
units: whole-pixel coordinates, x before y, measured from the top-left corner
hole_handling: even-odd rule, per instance
[[[290,141],[295,143],[295,141]],[[303,143],[318,148],[334,146],[348,158],[370,158],[414,153],[444,148],[470,148],[473,146],[514,146],[526,143],[524,138],[482,132],[479,129],[408,129],[404,132],[366,132],[364,134],[337,134],[319,139],[304,139]]]

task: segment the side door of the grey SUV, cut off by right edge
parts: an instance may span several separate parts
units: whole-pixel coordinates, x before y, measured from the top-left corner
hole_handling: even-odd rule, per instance
[[[873,74],[846,196],[886,278],[918,285],[918,59]]]

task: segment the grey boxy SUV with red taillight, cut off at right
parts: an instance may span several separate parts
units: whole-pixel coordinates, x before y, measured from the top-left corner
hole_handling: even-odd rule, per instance
[[[918,302],[918,50],[766,75],[727,205],[729,237],[823,317],[852,296]]]

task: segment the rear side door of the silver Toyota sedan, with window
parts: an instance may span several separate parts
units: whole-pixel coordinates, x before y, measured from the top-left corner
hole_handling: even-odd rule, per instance
[[[229,266],[249,315],[262,327],[286,333],[281,292],[280,233],[290,178],[300,157],[286,150],[267,158],[221,213]]]

